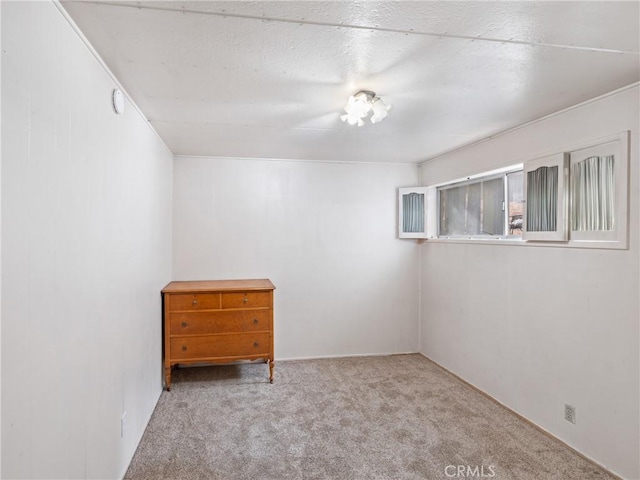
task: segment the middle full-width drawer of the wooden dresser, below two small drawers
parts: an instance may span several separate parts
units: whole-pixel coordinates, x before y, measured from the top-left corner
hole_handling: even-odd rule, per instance
[[[171,335],[270,330],[271,310],[180,312],[171,314]]]

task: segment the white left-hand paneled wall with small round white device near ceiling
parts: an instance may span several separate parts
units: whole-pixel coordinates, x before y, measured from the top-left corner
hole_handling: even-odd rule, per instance
[[[161,392],[172,155],[55,4],[2,2],[2,47],[2,478],[120,478]]]

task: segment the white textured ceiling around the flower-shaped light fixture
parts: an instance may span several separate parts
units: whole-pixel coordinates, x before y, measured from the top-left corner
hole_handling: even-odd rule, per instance
[[[638,2],[62,5],[179,155],[416,163],[640,80]]]

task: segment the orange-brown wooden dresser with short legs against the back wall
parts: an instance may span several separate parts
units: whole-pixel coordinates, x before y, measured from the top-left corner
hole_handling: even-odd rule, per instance
[[[175,365],[264,360],[273,383],[271,281],[171,282],[164,299],[164,376],[171,390]]]

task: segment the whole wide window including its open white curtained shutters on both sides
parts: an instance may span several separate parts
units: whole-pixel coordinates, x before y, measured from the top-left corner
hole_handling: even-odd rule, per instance
[[[623,132],[524,165],[400,189],[399,237],[627,248],[628,164]]]

